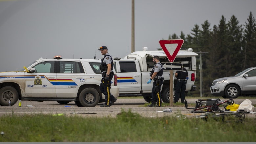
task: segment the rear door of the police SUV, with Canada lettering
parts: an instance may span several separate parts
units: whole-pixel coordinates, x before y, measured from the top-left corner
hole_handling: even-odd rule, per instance
[[[85,84],[85,74],[81,62],[59,59],[56,79],[57,97],[74,98],[83,84]]]

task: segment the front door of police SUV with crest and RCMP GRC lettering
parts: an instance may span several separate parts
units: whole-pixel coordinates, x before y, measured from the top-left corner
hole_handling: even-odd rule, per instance
[[[56,62],[40,62],[32,67],[34,73],[25,72],[26,97],[56,97]]]

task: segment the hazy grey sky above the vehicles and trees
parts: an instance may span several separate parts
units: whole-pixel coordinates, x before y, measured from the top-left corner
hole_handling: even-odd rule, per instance
[[[0,0],[0,71],[16,71],[42,58],[101,58],[131,53],[131,0]],[[245,24],[256,0],[135,0],[135,51],[160,48],[159,40],[190,34],[224,15]]]

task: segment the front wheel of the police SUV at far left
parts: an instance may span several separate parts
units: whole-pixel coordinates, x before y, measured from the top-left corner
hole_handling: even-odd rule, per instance
[[[0,105],[1,106],[8,106],[8,101],[11,100],[11,106],[16,104],[18,101],[19,95],[15,88],[11,86],[5,86],[0,89]]]

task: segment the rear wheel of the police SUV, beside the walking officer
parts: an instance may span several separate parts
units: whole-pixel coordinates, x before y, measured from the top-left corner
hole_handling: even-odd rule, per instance
[[[85,88],[79,94],[79,101],[84,107],[94,107],[99,103],[99,93],[94,88]]]

